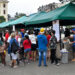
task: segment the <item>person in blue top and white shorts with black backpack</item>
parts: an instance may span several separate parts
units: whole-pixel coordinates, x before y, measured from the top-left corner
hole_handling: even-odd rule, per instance
[[[12,57],[11,67],[17,68],[16,62],[18,59],[17,51],[19,48],[19,44],[18,44],[17,40],[15,39],[15,33],[11,34],[11,40],[9,42],[9,47],[11,50],[11,57]]]

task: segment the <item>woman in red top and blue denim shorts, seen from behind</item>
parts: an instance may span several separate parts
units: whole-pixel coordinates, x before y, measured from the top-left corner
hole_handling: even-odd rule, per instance
[[[23,42],[23,47],[24,47],[24,56],[26,57],[27,54],[27,59],[29,60],[29,52],[31,51],[31,41],[29,40],[29,37],[26,35],[25,40]]]

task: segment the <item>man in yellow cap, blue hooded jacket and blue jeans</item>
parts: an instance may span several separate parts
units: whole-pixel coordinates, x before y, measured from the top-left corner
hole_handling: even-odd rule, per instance
[[[37,36],[37,41],[38,41],[38,50],[39,50],[39,65],[41,66],[42,62],[42,54],[43,54],[43,59],[44,59],[44,66],[47,66],[46,64],[46,53],[47,53],[47,38],[44,35],[44,28],[40,29],[40,35]]]

